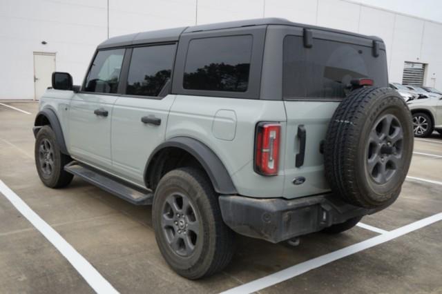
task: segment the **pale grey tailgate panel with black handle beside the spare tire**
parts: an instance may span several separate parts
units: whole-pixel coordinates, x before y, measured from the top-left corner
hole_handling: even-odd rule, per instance
[[[285,133],[285,183],[284,197],[295,198],[329,191],[325,180],[324,157],[320,151],[325,133],[337,101],[285,101],[287,128]],[[298,129],[305,130],[304,162],[296,166],[296,155],[302,157],[302,139]],[[299,161],[299,159],[298,159]],[[302,184],[294,179],[305,178]],[[302,182],[299,181],[299,182]]]

